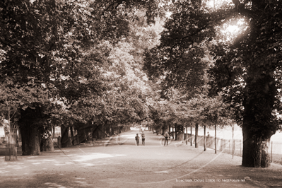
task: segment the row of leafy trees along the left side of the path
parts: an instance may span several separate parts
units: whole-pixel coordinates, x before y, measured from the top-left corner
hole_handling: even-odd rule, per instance
[[[147,116],[141,61],[158,40],[148,25],[157,5],[0,2],[1,116],[20,129],[23,155],[39,154],[40,139],[55,125],[65,137],[72,127],[110,131]]]

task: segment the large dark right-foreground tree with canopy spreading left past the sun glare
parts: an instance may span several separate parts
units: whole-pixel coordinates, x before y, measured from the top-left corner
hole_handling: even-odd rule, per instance
[[[281,109],[281,1],[221,1],[212,7],[206,2],[175,1],[160,45],[147,54],[146,69],[154,76],[164,75],[165,86],[199,92],[195,89],[203,86],[208,66],[203,61],[204,49],[211,49],[216,62],[211,64],[210,95],[223,90],[237,110],[244,139],[242,165],[268,167],[267,143],[281,128],[277,116]],[[219,36],[221,28],[238,20],[247,25],[240,35]]]

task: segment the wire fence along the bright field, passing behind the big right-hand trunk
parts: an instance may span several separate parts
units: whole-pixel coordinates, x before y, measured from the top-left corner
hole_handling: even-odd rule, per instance
[[[185,136],[186,137],[186,136]],[[215,137],[206,136],[206,148],[215,149]],[[186,139],[186,138],[184,138]],[[188,138],[189,139],[189,138]],[[195,143],[195,136],[192,135],[192,141]],[[198,136],[197,139],[198,146],[204,146],[204,136]],[[216,151],[222,151],[223,153],[228,153],[230,155],[242,157],[243,143],[242,140],[235,139],[216,139]],[[271,158],[271,163],[277,163],[282,165],[282,142],[269,142],[269,154]]]

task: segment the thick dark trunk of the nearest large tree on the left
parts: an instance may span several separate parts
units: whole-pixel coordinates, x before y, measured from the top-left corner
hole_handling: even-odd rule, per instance
[[[40,136],[37,126],[20,127],[23,155],[40,155]]]

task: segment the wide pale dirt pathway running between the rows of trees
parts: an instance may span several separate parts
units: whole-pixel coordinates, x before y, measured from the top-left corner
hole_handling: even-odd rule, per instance
[[[270,187],[282,185],[282,167],[242,168],[242,158],[203,151],[149,131],[136,146],[128,131],[94,146],[38,156],[0,158],[0,187]]]

